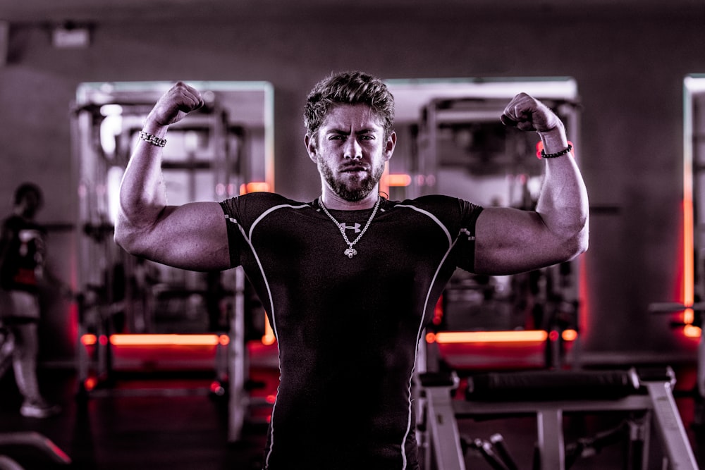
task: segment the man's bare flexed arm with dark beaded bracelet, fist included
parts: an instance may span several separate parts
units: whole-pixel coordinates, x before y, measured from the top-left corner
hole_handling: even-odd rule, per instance
[[[535,211],[491,207],[477,218],[475,271],[503,275],[568,261],[587,249],[587,191],[571,156],[565,127],[553,111],[526,93],[501,116],[505,125],[536,131],[546,153]],[[548,156],[552,158],[547,158]],[[557,157],[557,158],[556,158]]]

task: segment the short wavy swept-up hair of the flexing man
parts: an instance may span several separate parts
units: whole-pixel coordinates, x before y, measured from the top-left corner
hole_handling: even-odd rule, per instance
[[[394,97],[379,78],[360,71],[331,75],[317,83],[304,108],[304,125],[309,135],[319,130],[326,114],[336,104],[367,104],[381,121],[384,138],[394,128]]]

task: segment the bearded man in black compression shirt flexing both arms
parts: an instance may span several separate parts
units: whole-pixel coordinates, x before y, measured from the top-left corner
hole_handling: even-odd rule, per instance
[[[166,130],[201,105],[197,90],[177,83],[147,116],[121,187],[116,242],[180,268],[245,269],[279,348],[265,469],[417,469],[417,345],[456,266],[516,273],[587,249],[587,192],[563,123],[526,94],[502,116],[539,132],[556,157],[546,159],[536,211],[443,196],[392,202],[378,188],[396,144],[393,97],[379,79],[341,73],[314,87],[304,113],[321,197],[168,206]]]

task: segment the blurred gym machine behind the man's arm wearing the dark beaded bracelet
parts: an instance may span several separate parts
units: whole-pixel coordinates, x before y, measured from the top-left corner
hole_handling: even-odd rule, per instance
[[[575,90],[570,82],[560,80],[547,80],[544,87],[508,80],[467,84],[466,88],[462,94],[459,90],[452,92],[452,86],[446,92],[429,92],[426,101],[419,103],[412,124],[397,124],[398,133],[410,134],[414,144],[410,149],[398,148],[390,161],[390,173],[411,177],[403,188],[390,187],[391,197],[438,193],[483,206],[533,209],[544,174],[544,162],[534,156],[539,151],[539,140],[531,132],[506,128],[499,116],[517,89],[529,89],[558,113],[570,141],[579,147]],[[402,100],[411,99],[404,92],[397,94]],[[417,94],[424,96],[423,92]],[[410,104],[400,107],[406,109]],[[436,335],[435,351],[429,350],[429,354],[443,350],[439,359],[450,369],[502,367],[501,362],[511,360],[512,353],[501,358],[462,354],[462,333],[504,333],[514,345],[525,344],[528,350],[533,340],[522,340],[531,336],[523,333],[545,332],[543,350],[539,346],[530,360],[536,361],[534,366],[561,366],[567,361],[568,348],[574,356],[579,350],[575,341],[579,331],[579,272],[578,260],[514,276],[477,276],[458,269],[429,327],[429,333],[441,333]],[[563,339],[565,331],[572,334],[565,336],[570,340]],[[443,346],[443,338],[450,337],[443,333],[454,333],[458,338],[453,346]],[[467,341],[467,347],[472,348],[474,340]],[[520,360],[529,361],[527,355]]]

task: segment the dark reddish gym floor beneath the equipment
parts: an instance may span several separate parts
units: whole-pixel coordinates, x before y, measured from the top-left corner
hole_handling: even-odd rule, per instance
[[[275,370],[267,373],[276,380]],[[692,426],[694,402],[692,394],[683,389],[692,386],[692,373],[689,367],[677,371],[682,386],[677,385],[676,402],[694,453],[699,462],[705,462],[705,431]],[[12,457],[27,470],[262,468],[265,420],[248,424],[239,443],[228,443],[226,403],[207,392],[209,376],[165,374],[149,381],[144,377],[126,377],[87,400],[77,399],[73,370],[41,369],[39,377],[47,398],[61,404],[63,411],[48,419],[20,416],[21,397],[10,371],[0,379],[0,436],[21,431],[41,433],[66,452],[72,462],[59,465],[26,446],[0,446],[0,454]],[[614,414],[575,419],[567,416],[566,440],[571,435],[594,435],[612,428],[620,419]],[[520,468],[531,469],[536,439],[534,419],[462,420],[459,427],[460,433],[470,440],[501,433]],[[652,435],[651,443],[651,447],[658,446],[658,438]],[[623,468],[624,455],[621,445],[612,445],[593,457],[580,459],[571,468],[618,470]],[[468,469],[491,469],[474,450],[467,453],[466,464]],[[661,468],[660,459],[651,459],[649,469]]]

